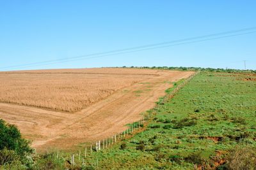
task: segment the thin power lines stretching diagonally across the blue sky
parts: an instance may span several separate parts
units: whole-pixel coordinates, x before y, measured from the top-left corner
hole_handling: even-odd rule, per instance
[[[193,38],[178,39],[178,40],[174,40],[174,41],[166,41],[163,43],[155,43],[155,44],[151,44],[151,45],[136,46],[136,47],[132,47],[132,48],[123,48],[121,50],[112,50],[112,51],[108,51],[108,52],[92,53],[92,54],[88,54],[88,55],[69,57],[69,58],[65,58],[65,59],[47,60],[44,62],[34,62],[31,64],[22,64],[22,65],[17,65],[17,66],[10,66],[10,67],[0,67],[0,69],[12,69],[12,68],[17,69],[17,68],[24,68],[24,67],[44,66],[47,64],[63,63],[63,62],[69,62],[69,61],[74,61],[74,60],[93,59],[93,58],[99,58],[99,57],[107,57],[109,55],[140,52],[140,51],[152,50],[152,49],[156,49],[156,48],[166,48],[169,46],[185,45],[185,44],[196,43],[196,42],[200,42],[200,41],[209,41],[209,40],[213,40],[213,39],[221,39],[221,38],[228,38],[228,37],[232,37],[232,36],[241,36],[244,34],[252,34],[252,33],[255,33],[256,31],[245,32],[245,33],[241,33],[241,34],[232,34],[232,35],[228,35],[228,36],[220,36],[223,34],[243,32],[243,31],[249,31],[249,30],[254,30],[254,29],[256,29],[256,27],[250,27],[250,28],[246,28],[246,29],[238,29],[238,30],[227,31],[227,32],[220,32],[220,33],[216,33],[216,34],[208,34],[208,35],[204,35],[204,36],[196,36]],[[219,36],[219,37],[209,38],[209,37],[213,37],[213,36]],[[209,38],[209,39],[202,39],[202,38]],[[200,40],[189,41],[189,40],[193,40],[193,39],[200,39]],[[184,41],[184,43],[182,43],[183,41]]]

